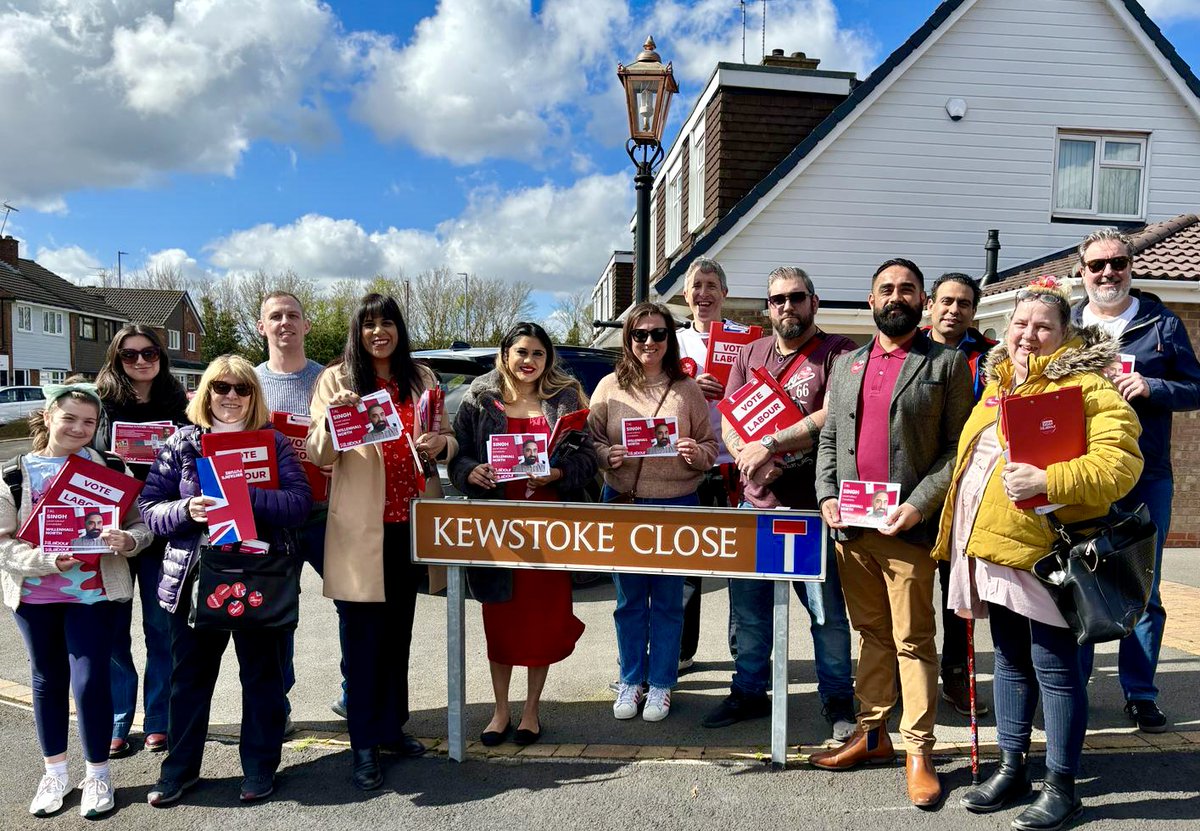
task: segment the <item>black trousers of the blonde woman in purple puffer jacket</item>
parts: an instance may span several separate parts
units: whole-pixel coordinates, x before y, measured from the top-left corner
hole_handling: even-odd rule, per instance
[[[170,706],[162,779],[186,782],[200,773],[212,689],[230,639],[241,678],[241,770],[245,776],[275,773],[283,747],[283,658],[290,634],[290,629],[193,629],[187,626],[186,603],[170,615]]]

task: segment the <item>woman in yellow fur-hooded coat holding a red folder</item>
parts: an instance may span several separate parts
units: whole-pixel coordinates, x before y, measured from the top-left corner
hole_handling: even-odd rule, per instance
[[[934,557],[950,561],[948,604],[962,617],[991,618],[995,707],[1001,761],[961,805],[990,813],[1030,793],[1030,735],[1038,698],[1046,731],[1045,783],[1012,823],[1020,831],[1058,829],[1082,811],[1075,773],[1087,730],[1087,678],[1080,647],[1050,592],[1032,574],[1055,533],[1044,516],[1014,503],[1044,496],[1064,524],[1103,516],[1138,480],[1141,428],[1105,377],[1116,342],[1069,322],[1070,293],[1039,277],[1016,293],[1003,343],[984,365],[988,387],[962,429]],[[1000,401],[1079,387],[1087,452],[1045,470],[1007,462]]]

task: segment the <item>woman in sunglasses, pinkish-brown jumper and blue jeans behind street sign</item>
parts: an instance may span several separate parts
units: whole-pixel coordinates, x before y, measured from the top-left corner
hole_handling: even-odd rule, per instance
[[[677,419],[678,455],[626,459],[626,418]],[[666,306],[640,303],[625,318],[622,355],[592,395],[588,430],[604,471],[601,500],[638,504],[696,506],[696,489],[716,458],[716,437],[700,385],[683,371],[674,318]],[[613,716],[659,722],[671,712],[683,635],[682,576],[614,574],[620,682]],[[647,658],[649,652],[649,658]]]

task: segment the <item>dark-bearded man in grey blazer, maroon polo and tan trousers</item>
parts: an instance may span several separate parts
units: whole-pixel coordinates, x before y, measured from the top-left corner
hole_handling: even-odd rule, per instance
[[[917,329],[925,292],[916,263],[889,259],[880,265],[866,303],[878,331],[833,366],[816,473],[817,501],[834,530],[846,606],[859,634],[858,725],[845,743],[814,753],[809,761],[826,770],[889,763],[895,751],[887,722],[899,686],[908,799],[930,808],[941,800],[942,784],[931,759],[937,566],[929,556],[928,526],[946,501],[959,434],[974,397],[961,353]],[[841,521],[838,491],[847,479],[900,486],[899,504],[883,527]]]

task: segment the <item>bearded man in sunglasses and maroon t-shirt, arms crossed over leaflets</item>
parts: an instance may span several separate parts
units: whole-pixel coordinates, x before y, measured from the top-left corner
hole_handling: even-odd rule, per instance
[[[767,277],[767,309],[774,334],[748,345],[730,372],[728,388],[737,389],[754,369],[764,367],[805,413],[794,426],[754,442],[743,442],[725,423],[725,444],[742,474],[743,507],[816,509],[815,450],[826,418],[828,373],[838,355],[854,348],[848,337],[828,335],[817,328],[818,306],[812,280],[802,269],[782,267],[772,271]],[[854,687],[850,622],[832,551],[826,574],[824,582],[792,585],[811,620],[823,715],[833,725],[833,737],[845,741],[854,729]],[[737,641],[733,680],[730,695],[704,718],[704,727],[727,727],[770,712],[767,682],[773,604],[772,581],[730,580],[731,628]]]

